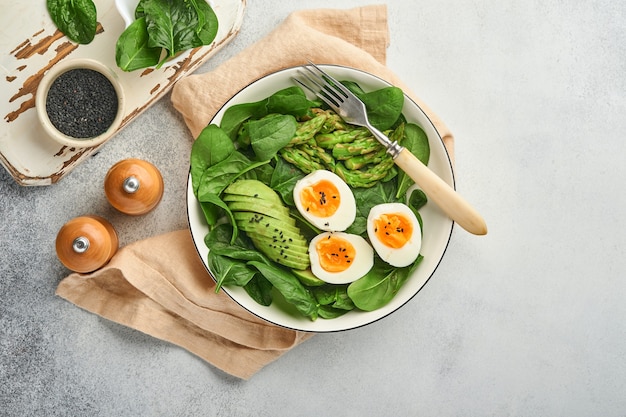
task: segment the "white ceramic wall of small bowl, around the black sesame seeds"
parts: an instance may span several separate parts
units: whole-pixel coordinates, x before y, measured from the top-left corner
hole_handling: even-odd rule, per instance
[[[48,115],[46,103],[48,100],[48,92],[50,91],[50,87],[58,77],[74,69],[89,69],[97,71],[100,74],[104,75],[111,82],[113,88],[115,89],[115,93],[117,95],[117,113],[109,127],[97,136],[86,138],[69,136],[59,131],[53,125]],[[111,70],[103,63],[87,58],[67,59],[54,65],[41,79],[41,82],[37,87],[37,93],[35,96],[35,107],[37,110],[37,116],[39,117],[39,121],[41,122],[41,125],[43,126],[45,132],[50,136],[50,138],[60,143],[61,145],[73,148],[88,148],[98,146],[111,138],[122,124],[122,119],[124,117],[124,103],[124,91],[115,72],[113,72],[113,70]]]

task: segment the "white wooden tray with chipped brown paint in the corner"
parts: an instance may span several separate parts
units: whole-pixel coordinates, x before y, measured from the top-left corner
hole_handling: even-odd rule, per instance
[[[50,185],[99,147],[74,149],[49,138],[35,110],[41,77],[68,58],[96,59],[119,76],[126,95],[121,130],[239,33],[246,0],[210,0],[219,22],[213,43],[182,54],[159,70],[124,72],[115,64],[115,43],[125,24],[114,0],[95,0],[98,33],[77,45],[55,27],[45,1],[0,0],[0,162],[21,185]]]

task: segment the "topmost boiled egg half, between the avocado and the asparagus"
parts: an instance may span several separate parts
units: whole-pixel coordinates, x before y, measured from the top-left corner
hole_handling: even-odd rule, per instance
[[[344,231],[356,217],[352,190],[330,171],[313,171],[299,180],[293,199],[300,214],[320,230]]]

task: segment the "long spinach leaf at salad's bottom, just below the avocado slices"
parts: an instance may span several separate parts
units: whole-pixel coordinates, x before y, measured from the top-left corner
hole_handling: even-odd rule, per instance
[[[248,264],[258,269],[259,272],[272,283],[274,288],[283,295],[285,300],[293,304],[300,313],[309,317],[311,320],[317,319],[317,301],[295,275],[289,271],[263,262],[250,261]]]

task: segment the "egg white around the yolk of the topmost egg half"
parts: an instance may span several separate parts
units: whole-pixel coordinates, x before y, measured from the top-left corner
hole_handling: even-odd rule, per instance
[[[337,211],[328,217],[318,217],[313,213],[306,210],[302,204],[300,198],[303,190],[310,187],[322,180],[328,180],[333,183],[339,191],[340,204]],[[317,170],[308,174],[301,180],[299,180],[293,190],[293,199],[296,204],[296,208],[302,214],[302,216],[308,220],[312,225],[320,230],[341,232],[346,230],[356,218],[356,202],[354,200],[354,194],[352,190],[346,184],[341,177],[326,170]]]

